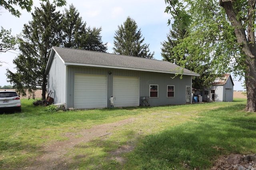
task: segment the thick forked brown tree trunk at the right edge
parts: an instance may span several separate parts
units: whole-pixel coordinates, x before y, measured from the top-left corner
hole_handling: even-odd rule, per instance
[[[238,20],[238,17],[234,12],[231,0],[220,0],[220,6],[224,8],[228,19],[234,27],[237,42],[242,49],[241,53],[246,55],[244,73],[247,89],[247,104],[245,110],[250,112],[256,111],[256,45],[254,31],[252,28],[252,25],[254,24],[252,14],[253,9],[255,8],[255,2],[255,0],[250,0],[250,3],[248,2],[248,6],[251,6],[248,8],[248,30],[246,36],[246,31],[242,25],[242,21]]]

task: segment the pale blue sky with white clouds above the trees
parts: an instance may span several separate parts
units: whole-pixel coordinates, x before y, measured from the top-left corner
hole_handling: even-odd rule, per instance
[[[69,5],[73,4],[80,12],[82,20],[86,22],[86,27],[102,28],[100,35],[103,43],[108,43],[108,53],[113,53],[113,37],[118,25],[123,24],[126,18],[130,16],[136,21],[142,37],[145,38],[143,43],[149,44],[150,52],[155,53],[154,58],[163,59],[161,42],[167,40],[167,34],[171,29],[171,26],[167,24],[170,14],[164,13],[166,8],[164,0],[66,0],[66,2],[67,6],[58,8],[58,10],[62,12],[64,8],[69,8]],[[40,2],[34,0],[35,6],[40,7]],[[12,35],[21,33],[24,24],[32,21],[32,16],[26,10],[20,10],[20,12],[22,15],[17,18],[3,8],[0,9],[0,26],[4,29],[12,29]],[[0,86],[10,85],[6,81],[6,69],[16,72],[12,60],[17,54],[17,51],[0,53],[0,61],[4,61],[0,66]],[[241,82],[234,78],[233,82],[234,90],[243,90]]]

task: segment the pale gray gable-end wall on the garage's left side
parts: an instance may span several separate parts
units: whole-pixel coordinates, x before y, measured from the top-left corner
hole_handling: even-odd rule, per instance
[[[66,66],[56,54],[48,73],[47,87],[48,93],[53,92],[51,97],[54,98],[54,104],[66,103]]]

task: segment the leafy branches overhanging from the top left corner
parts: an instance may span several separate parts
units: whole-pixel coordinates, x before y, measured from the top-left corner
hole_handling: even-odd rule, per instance
[[[48,2],[48,0],[41,1]],[[54,0],[53,3],[57,6],[65,6],[66,0]],[[20,17],[21,13],[19,10],[16,10],[14,6],[19,6],[22,10],[26,9],[27,12],[30,12],[33,4],[33,0],[0,0],[0,6],[3,6],[6,10],[8,10],[12,15],[16,17]]]

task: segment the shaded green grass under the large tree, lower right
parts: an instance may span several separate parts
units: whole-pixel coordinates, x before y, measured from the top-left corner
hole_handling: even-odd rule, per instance
[[[242,112],[243,106],[203,112],[198,122],[149,135],[133,161],[142,159],[140,169],[207,169],[220,154],[255,152],[256,113]]]

